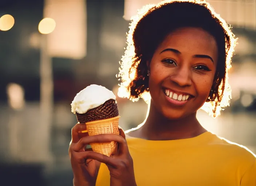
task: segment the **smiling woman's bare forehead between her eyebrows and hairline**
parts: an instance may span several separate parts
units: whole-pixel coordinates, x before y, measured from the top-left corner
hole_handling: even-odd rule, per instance
[[[179,28],[169,33],[159,49],[173,48],[181,53],[217,56],[216,40],[201,28]]]

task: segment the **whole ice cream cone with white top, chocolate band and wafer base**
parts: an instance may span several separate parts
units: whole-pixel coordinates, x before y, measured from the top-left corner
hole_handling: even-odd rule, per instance
[[[71,112],[80,124],[86,124],[89,136],[119,134],[119,112],[116,96],[100,85],[90,85],[76,94],[71,103]],[[91,143],[92,150],[110,156],[117,142]]]

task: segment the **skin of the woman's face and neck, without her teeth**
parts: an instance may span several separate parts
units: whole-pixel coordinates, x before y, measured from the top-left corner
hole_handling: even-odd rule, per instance
[[[179,52],[164,51],[170,48]],[[128,135],[147,140],[175,140],[204,133],[196,111],[209,96],[217,58],[216,41],[203,29],[187,27],[170,33],[147,62],[151,94],[148,118],[141,128]],[[163,88],[192,97],[182,106],[173,105],[167,101]]]

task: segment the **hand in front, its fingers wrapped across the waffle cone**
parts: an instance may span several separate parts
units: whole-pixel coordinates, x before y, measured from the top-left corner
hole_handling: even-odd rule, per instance
[[[111,186],[136,186],[133,160],[129,153],[123,130],[120,130],[120,135],[100,134],[83,137],[72,147],[71,158],[73,157],[73,159],[76,159],[75,161],[80,165],[84,164],[84,159],[87,159],[87,161],[88,159],[93,159],[93,161],[105,163],[110,172]],[[89,143],[104,143],[111,141],[116,141],[118,143],[118,149],[116,153],[112,154],[110,157],[93,151],[83,151],[84,147]]]

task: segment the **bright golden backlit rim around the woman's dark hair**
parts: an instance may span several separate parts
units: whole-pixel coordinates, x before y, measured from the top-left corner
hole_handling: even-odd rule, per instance
[[[218,86],[219,92],[215,100],[205,102],[201,109],[205,110],[212,117],[217,117],[220,115],[220,111],[226,106],[229,106],[229,101],[231,100],[231,87],[228,83],[228,70],[231,68],[231,58],[233,56],[234,48],[236,46],[237,39],[231,31],[231,27],[225,22],[224,19],[220,17],[209,3],[205,0],[165,0],[161,1],[159,4],[149,4],[141,8],[136,16],[131,18],[131,23],[129,24],[129,32],[127,33],[127,47],[125,48],[124,56],[121,58],[120,72],[117,74],[117,78],[121,80],[120,89],[118,95],[120,97],[127,97],[132,101],[138,101],[139,98],[143,98],[145,102],[150,102],[151,97],[149,94],[149,89],[145,89],[144,92],[138,92],[136,96],[131,96],[131,84],[136,80],[137,66],[140,64],[140,59],[135,52],[135,43],[133,41],[133,33],[139,21],[144,18],[147,13],[158,9],[165,4],[170,4],[173,2],[191,2],[204,6],[212,15],[213,19],[219,20],[220,26],[223,28],[225,35],[225,53],[226,53],[226,73],[225,77],[222,79],[220,85]],[[135,68],[136,67],[136,68]],[[135,69],[134,69],[135,68]]]

